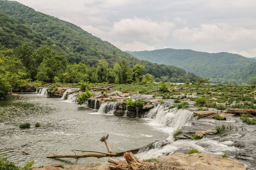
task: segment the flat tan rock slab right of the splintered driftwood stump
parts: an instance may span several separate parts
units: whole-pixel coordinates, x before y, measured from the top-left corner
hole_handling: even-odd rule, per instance
[[[156,159],[166,166],[188,170],[245,170],[242,162],[208,153],[174,153]]]

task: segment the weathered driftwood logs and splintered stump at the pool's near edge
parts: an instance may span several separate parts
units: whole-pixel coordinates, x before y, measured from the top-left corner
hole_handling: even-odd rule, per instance
[[[80,149],[72,149],[72,151],[81,151],[81,152],[91,152],[87,154],[53,154],[51,156],[47,156],[47,158],[85,158],[85,157],[96,157],[96,158],[102,158],[109,156],[108,162],[110,162],[109,168],[111,170],[182,170],[179,168],[173,168],[166,166],[165,164],[160,164],[158,162],[141,162],[138,160],[134,154],[137,153],[140,149],[145,148],[139,148],[134,150],[128,150],[125,152],[116,152],[112,153],[110,146],[108,144],[108,135],[103,136],[100,139],[101,142],[104,142],[106,145],[106,148],[108,152],[102,152],[98,150],[80,150]],[[163,145],[167,145],[168,143],[164,143]],[[151,144],[149,144],[151,145]],[[147,146],[149,146],[147,145]],[[147,147],[146,146],[146,147]],[[118,160],[115,158],[112,158],[114,156],[124,156],[125,160]]]

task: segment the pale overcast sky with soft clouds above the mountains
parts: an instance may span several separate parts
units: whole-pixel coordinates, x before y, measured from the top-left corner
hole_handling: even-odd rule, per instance
[[[123,51],[163,48],[256,57],[256,0],[18,0]]]

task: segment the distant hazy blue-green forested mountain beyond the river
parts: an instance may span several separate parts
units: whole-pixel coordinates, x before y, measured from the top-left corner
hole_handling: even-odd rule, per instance
[[[159,49],[154,51],[127,51],[138,59],[153,63],[169,64],[183,68],[202,77],[216,80],[230,77],[236,70],[246,68],[254,59],[231,53],[205,53],[189,49]],[[256,69],[256,68],[255,68]],[[242,77],[239,77],[242,78]]]

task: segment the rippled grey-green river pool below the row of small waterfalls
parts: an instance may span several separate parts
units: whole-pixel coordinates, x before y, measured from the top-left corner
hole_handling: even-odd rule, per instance
[[[47,155],[72,154],[71,149],[107,151],[99,139],[109,134],[112,151],[142,147],[156,140],[165,140],[169,135],[153,129],[147,119],[118,117],[97,114],[95,110],[76,103],[64,102],[36,93],[22,94],[20,100],[1,101],[0,153],[8,160],[23,165],[34,160],[35,165],[52,163],[90,164],[106,162],[106,158],[50,159]],[[93,114],[92,114],[93,113]],[[19,123],[29,121],[29,129],[20,129]],[[41,127],[35,128],[34,123]],[[26,150],[24,155],[19,150]],[[79,152],[78,152],[79,153]]]

